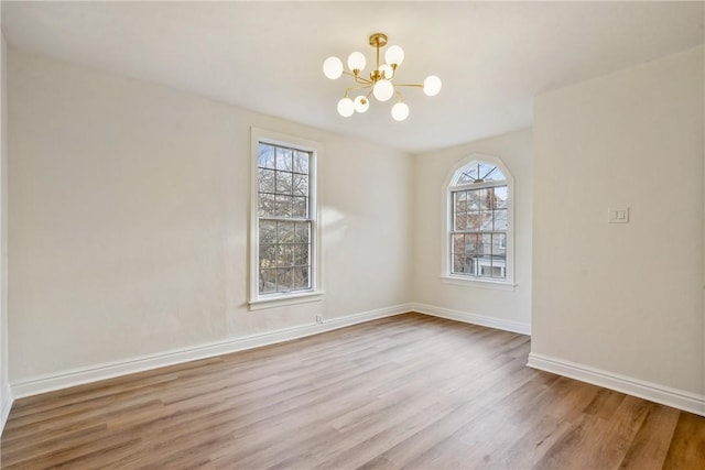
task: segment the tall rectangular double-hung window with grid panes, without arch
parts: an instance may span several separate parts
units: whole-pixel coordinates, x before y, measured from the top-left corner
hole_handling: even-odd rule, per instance
[[[315,195],[318,149],[296,141],[252,130],[256,164],[251,305],[318,294]]]

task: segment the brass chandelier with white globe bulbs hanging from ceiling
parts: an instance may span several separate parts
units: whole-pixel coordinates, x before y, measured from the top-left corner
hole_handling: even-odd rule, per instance
[[[409,117],[409,106],[403,101],[401,87],[423,88],[427,96],[435,96],[441,91],[441,78],[431,75],[423,80],[423,84],[397,84],[397,69],[404,62],[404,51],[397,46],[389,46],[384,53],[384,64],[379,63],[379,50],[387,45],[387,34],[375,33],[370,36],[370,45],[375,47],[377,59],[375,69],[370,72],[369,78],[361,75],[367,65],[367,59],[361,52],[354,52],[348,56],[348,68],[343,67],[343,61],[338,57],[328,57],[323,63],[323,73],[332,80],[340,78],[341,75],[349,75],[355,80],[355,86],[345,90],[345,96],[338,101],[338,113],[348,118],[357,112],[366,112],[370,107],[370,95],[378,101],[389,101],[394,95],[399,100],[392,106],[392,118],[403,121]],[[355,97],[350,97],[355,95]]]

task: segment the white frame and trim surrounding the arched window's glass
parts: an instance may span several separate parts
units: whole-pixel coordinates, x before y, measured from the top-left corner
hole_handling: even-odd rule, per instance
[[[484,162],[492,166],[497,166],[505,175],[505,181],[501,182],[501,185],[507,186],[507,277],[503,280],[466,276],[453,274],[452,272],[453,253],[451,250],[451,233],[453,231],[453,192],[462,190],[464,188],[479,189],[482,187],[491,187],[498,185],[498,183],[496,182],[457,185],[456,182],[458,172],[473,162]],[[441,236],[441,281],[444,284],[459,285],[465,287],[513,291],[517,287],[517,284],[514,284],[514,178],[505,163],[499,157],[492,155],[473,153],[466,156],[457,164],[455,164],[448,173],[443,184],[442,201],[441,214],[443,215],[443,233]]]

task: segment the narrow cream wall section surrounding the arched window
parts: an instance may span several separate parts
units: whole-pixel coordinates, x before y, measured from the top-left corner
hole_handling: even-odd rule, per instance
[[[414,302],[531,325],[531,157],[532,132],[525,129],[494,139],[427,152],[414,163]],[[514,178],[514,283],[512,292],[445,284],[441,278],[444,182],[474,153],[499,157]],[[507,326],[507,325],[505,325]]]

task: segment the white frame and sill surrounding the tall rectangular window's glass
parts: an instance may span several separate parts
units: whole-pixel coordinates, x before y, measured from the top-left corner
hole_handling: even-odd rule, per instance
[[[304,152],[311,152],[308,161],[308,187],[310,187],[310,217],[311,217],[311,288],[306,291],[294,291],[291,293],[260,294],[259,284],[259,144],[269,143],[273,145],[288,146]],[[250,278],[249,291],[250,310],[263,308],[281,307],[286,305],[316,302],[323,298],[323,284],[321,272],[321,198],[317,187],[321,184],[318,178],[319,165],[323,156],[323,144],[280,132],[269,131],[260,128],[250,130]]]

